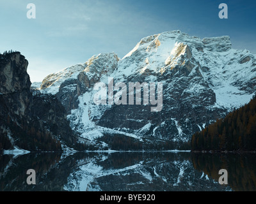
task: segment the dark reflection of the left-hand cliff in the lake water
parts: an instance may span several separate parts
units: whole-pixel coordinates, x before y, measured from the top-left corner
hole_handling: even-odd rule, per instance
[[[61,153],[26,154],[19,157],[0,154],[0,191],[63,191],[68,175],[77,166],[99,154],[76,153],[61,159]],[[36,171],[36,185],[28,185],[26,171]]]

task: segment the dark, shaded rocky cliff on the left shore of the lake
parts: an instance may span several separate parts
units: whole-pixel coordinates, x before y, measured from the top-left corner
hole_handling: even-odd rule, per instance
[[[20,52],[0,55],[0,150],[62,150],[76,140],[54,96],[33,96],[28,61]]]

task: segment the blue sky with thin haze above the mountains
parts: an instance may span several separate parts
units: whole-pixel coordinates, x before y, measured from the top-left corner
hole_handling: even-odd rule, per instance
[[[28,19],[28,3],[36,18]],[[228,19],[220,19],[220,3]],[[31,82],[86,62],[92,55],[124,57],[141,38],[180,30],[200,38],[230,36],[232,47],[256,54],[256,1],[240,0],[0,0],[0,52],[29,61]]]

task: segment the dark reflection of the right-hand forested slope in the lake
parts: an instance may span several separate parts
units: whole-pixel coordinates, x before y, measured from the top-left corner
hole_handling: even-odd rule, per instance
[[[255,154],[191,154],[196,170],[218,182],[219,170],[228,171],[228,186],[234,191],[256,191]]]

